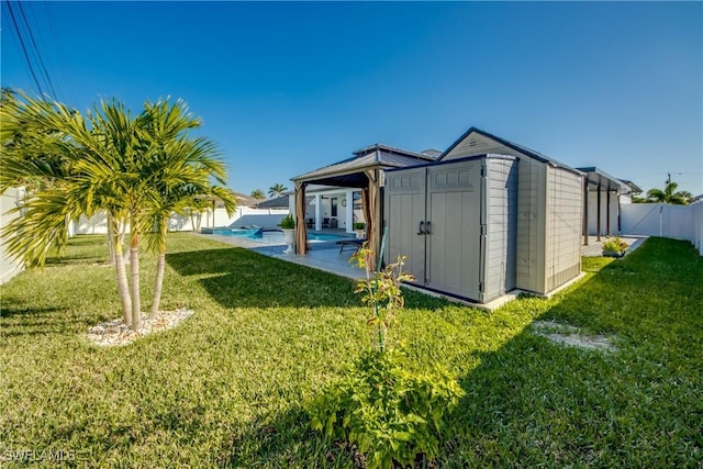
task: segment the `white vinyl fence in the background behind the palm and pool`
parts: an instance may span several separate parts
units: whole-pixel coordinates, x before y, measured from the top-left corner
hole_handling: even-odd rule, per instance
[[[215,209],[214,216],[212,210],[203,213],[201,216],[200,227],[220,227],[220,226],[249,226],[256,225],[264,228],[274,228],[290,212],[288,210],[275,209],[249,209],[242,206],[236,210],[233,216],[227,216],[224,209]],[[190,216],[181,216],[174,214],[168,222],[168,228],[172,232],[193,231]],[[90,219],[81,216],[69,227],[69,235],[74,234],[107,234],[108,217],[104,214],[98,214]]]

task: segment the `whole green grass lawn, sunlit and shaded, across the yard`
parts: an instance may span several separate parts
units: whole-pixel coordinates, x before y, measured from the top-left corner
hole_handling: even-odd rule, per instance
[[[1,289],[0,458],[24,455],[5,464],[354,467],[303,410],[369,346],[350,280],[174,234],[161,308],[196,314],[98,348],[82,334],[120,316],[105,259],[103,237],[77,237]],[[145,258],[145,310],[154,268]],[[584,270],[554,299],[492,313],[406,293],[391,336],[409,366],[443,364],[467,392],[440,467],[703,465],[703,258],[651,238]],[[531,332],[536,319],[613,335],[618,349],[556,345]]]

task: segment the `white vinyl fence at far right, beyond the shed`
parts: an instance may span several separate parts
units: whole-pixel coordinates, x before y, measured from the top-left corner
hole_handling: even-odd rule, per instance
[[[621,227],[624,235],[663,236],[690,241],[703,256],[703,201],[691,205],[622,204]]]

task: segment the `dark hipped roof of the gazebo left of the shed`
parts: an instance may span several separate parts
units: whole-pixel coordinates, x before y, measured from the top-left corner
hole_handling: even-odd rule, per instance
[[[432,156],[410,152],[383,144],[376,144],[354,152],[352,158],[292,178],[297,182],[312,182],[324,186],[366,187],[366,169],[403,168],[434,161]]]

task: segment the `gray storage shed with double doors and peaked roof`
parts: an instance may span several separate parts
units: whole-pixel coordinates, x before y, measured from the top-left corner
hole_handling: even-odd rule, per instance
[[[581,271],[583,174],[471,127],[437,163],[387,170],[386,260],[478,303],[545,294]]]

